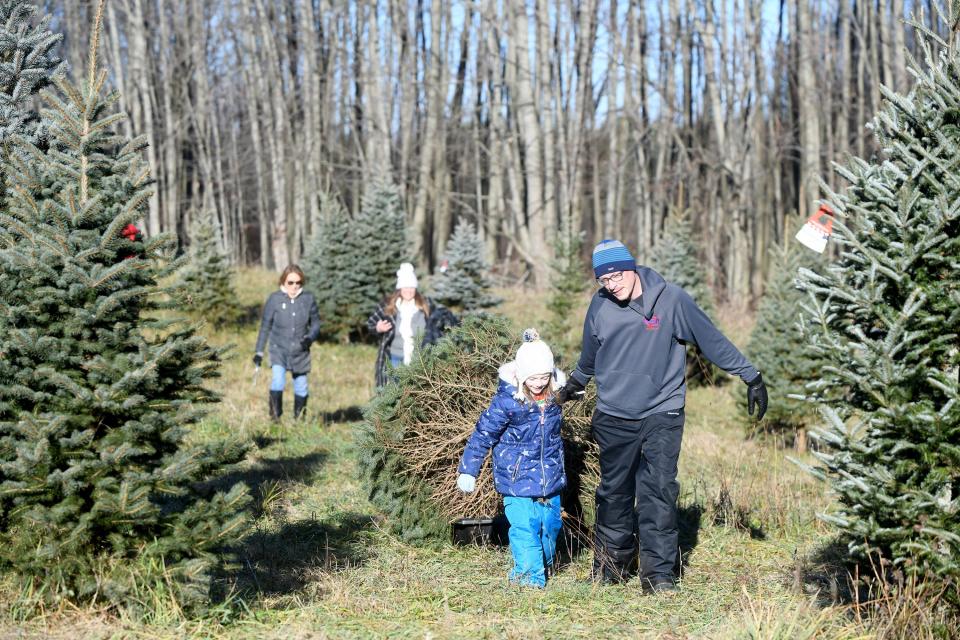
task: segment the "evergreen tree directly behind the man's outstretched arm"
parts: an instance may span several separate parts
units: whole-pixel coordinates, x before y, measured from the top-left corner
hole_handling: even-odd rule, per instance
[[[700,261],[700,247],[693,238],[693,225],[686,213],[674,212],[667,218],[663,237],[650,255],[650,266],[667,281],[682,287],[708,316],[713,317],[713,295]],[[687,383],[715,384],[720,379],[719,371],[703,357],[700,349],[689,346]]]

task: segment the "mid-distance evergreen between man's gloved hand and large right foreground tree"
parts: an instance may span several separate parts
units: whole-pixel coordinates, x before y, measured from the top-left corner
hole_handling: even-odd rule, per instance
[[[762,427],[802,433],[816,411],[796,396],[806,393],[806,383],[819,376],[822,364],[806,349],[801,330],[805,294],[797,286],[797,277],[801,267],[813,268],[821,261],[818,254],[793,240],[772,248],[770,257],[770,275],[746,353],[751,362],[763,363],[764,382],[776,390],[770,395]],[[749,428],[755,429],[756,423]]]

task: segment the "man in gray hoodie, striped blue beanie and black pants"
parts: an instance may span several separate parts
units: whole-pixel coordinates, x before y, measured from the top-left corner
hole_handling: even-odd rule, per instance
[[[686,343],[747,385],[747,408],[767,410],[760,372],[713,325],[690,295],[627,248],[603,240],[593,250],[600,290],[583,323],[576,369],[558,393],[564,402],[597,385],[593,436],[600,446],[593,577],[624,581],[637,557],[654,592],[676,589],[677,461],[686,401]]]

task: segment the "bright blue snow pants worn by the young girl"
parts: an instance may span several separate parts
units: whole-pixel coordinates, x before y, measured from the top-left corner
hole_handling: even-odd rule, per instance
[[[510,522],[510,551],[513,569],[510,581],[533,587],[547,584],[546,567],[553,566],[557,551],[560,495],[549,498],[504,496],[503,507]]]

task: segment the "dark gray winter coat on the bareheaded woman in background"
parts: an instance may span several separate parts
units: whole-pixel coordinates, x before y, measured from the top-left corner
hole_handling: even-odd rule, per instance
[[[283,291],[274,291],[263,305],[257,353],[263,353],[270,340],[270,364],[278,364],[293,373],[310,371],[310,345],[320,335],[320,314],[312,293],[303,291],[290,299]]]

